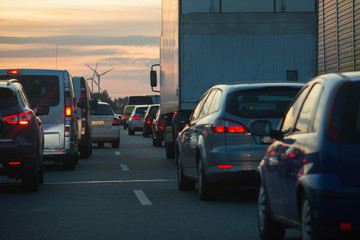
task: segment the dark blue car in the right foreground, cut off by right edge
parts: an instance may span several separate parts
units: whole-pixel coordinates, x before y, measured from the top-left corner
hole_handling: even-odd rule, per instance
[[[360,72],[314,78],[277,130],[256,120],[250,132],[273,137],[258,173],[261,239],[360,239]]]

